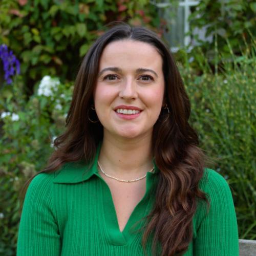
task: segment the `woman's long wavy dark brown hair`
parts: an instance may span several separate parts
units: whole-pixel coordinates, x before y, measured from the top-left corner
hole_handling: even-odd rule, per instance
[[[142,242],[145,247],[148,238],[152,237],[153,252],[160,243],[161,255],[172,256],[185,252],[193,238],[192,220],[198,199],[207,202],[208,206],[209,202],[206,194],[199,189],[204,155],[198,147],[198,136],[188,123],[189,99],[172,54],[154,32],[143,27],[118,24],[94,42],[82,60],[75,81],[66,131],[55,139],[56,150],[41,172],[55,172],[66,162],[85,160],[92,163],[97,145],[103,138],[100,122],[92,123],[87,116],[93,103],[99,61],[106,45],[123,39],[154,46],[163,60],[164,100],[170,114],[161,112],[154,125],[153,154],[160,173],[155,205],[147,216]],[[32,179],[27,182],[26,189]]]

